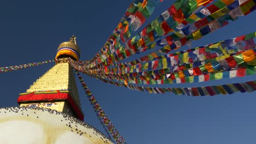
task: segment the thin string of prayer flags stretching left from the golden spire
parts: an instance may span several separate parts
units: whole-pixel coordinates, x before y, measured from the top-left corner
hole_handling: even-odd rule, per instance
[[[49,61],[37,62],[37,63],[28,63],[28,64],[21,64],[21,65],[14,65],[14,66],[10,66],[10,67],[2,67],[2,68],[0,68],[0,73],[6,73],[8,71],[31,68],[34,66],[38,66],[38,65],[42,65],[42,64],[46,64],[46,63],[50,63],[50,62],[54,62],[54,59],[49,60]]]

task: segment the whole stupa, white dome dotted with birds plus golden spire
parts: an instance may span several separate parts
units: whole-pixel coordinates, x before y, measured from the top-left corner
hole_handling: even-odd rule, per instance
[[[68,58],[79,61],[75,37],[57,49],[56,64],[25,93],[20,107],[0,109],[0,143],[113,143],[84,123],[74,73]]]

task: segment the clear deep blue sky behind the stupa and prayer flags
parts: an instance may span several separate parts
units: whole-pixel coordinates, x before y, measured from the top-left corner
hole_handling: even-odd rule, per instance
[[[106,42],[131,2],[3,1],[0,5],[0,67],[53,59],[59,44],[73,34],[82,51],[80,60],[90,59]],[[153,18],[173,2],[164,1]],[[193,41],[192,47],[254,32],[255,17],[254,12],[231,21],[228,26]],[[146,24],[148,22],[150,20]],[[0,107],[18,106],[19,93],[25,92],[53,65],[0,74]],[[256,141],[256,92],[214,97],[149,94],[82,76],[127,143],[236,144]],[[251,80],[256,80],[255,75],[166,87],[200,87]],[[80,83],[78,89],[85,122],[103,131]]]

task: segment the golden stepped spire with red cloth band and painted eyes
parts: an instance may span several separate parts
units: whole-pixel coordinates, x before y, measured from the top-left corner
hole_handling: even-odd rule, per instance
[[[73,35],[58,47],[56,65],[39,77],[26,93],[20,94],[20,106],[48,107],[83,119],[73,69],[68,63],[68,57],[79,61],[79,55],[80,50]]]

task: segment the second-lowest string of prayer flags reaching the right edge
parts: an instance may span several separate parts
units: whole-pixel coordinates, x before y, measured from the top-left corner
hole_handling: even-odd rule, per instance
[[[200,70],[200,69],[197,69]],[[193,72],[194,71],[194,72]],[[187,74],[190,72],[188,70]],[[151,75],[102,75],[85,73],[92,77],[101,77],[109,82],[124,82],[137,85],[164,85],[170,83],[193,83],[212,80],[221,80],[225,78],[232,79],[234,77],[243,77],[256,74],[256,67],[239,68],[234,70],[218,71],[214,73],[199,73],[196,69],[191,70],[196,75],[189,76],[183,71],[178,71],[172,74],[151,74]]]

